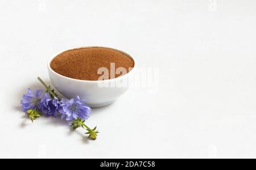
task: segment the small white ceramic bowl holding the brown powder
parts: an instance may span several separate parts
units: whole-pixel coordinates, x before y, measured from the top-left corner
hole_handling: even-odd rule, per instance
[[[125,52],[122,52],[120,50],[117,51],[131,57]],[[131,57],[134,60],[134,68],[129,73],[123,76],[119,76],[118,78],[109,80],[79,80],[60,75],[51,69],[50,63],[52,59],[56,56],[52,57],[48,62],[49,78],[51,79],[53,86],[56,88],[57,91],[59,91],[63,96],[67,97],[68,99],[79,95],[80,98],[85,99],[86,103],[92,108],[104,107],[106,105],[109,105],[113,103],[113,101],[117,99],[117,97],[121,96],[129,87],[136,66],[134,58]]]

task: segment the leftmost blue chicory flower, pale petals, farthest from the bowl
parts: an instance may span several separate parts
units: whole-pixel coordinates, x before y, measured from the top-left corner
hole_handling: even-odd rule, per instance
[[[43,90],[34,90],[31,91],[30,88],[27,88],[27,94],[23,95],[23,100],[20,100],[20,104],[23,112],[27,112],[32,109],[41,109],[41,99],[43,98]]]

